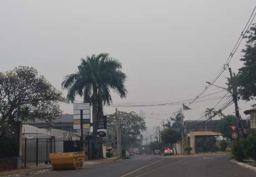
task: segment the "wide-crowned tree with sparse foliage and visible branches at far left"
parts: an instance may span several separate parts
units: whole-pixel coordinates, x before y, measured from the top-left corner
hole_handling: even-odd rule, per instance
[[[33,67],[19,66],[0,72],[0,124],[42,119],[49,125],[62,114],[58,105],[65,101]]]

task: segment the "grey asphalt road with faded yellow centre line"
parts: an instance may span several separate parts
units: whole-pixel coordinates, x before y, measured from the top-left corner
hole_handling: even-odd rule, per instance
[[[90,165],[79,170],[51,171],[36,177],[161,177],[161,176],[247,176],[256,173],[230,163],[229,155],[203,155],[200,157],[163,157],[160,155],[134,155],[121,162]]]

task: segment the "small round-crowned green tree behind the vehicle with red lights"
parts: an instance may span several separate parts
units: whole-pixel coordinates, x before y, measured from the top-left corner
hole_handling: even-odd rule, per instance
[[[172,144],[175,148],[176,154],[177,149],[175,143],[179,142],[181,139],[181,133],[178,129],[167,128],[161,132],[162,143],[165,145]]]

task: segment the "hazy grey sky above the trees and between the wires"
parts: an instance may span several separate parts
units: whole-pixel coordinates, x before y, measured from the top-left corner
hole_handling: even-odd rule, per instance
[[[227,59],[254,6],[254,0],[1,1],[0,71],[33,66],[61,90],[63,76],[76,71],[80,58],[106,52],[121,61],[128,76],[127,99],[113,95],[114,103],[193,98]],[[230,65],[234,71],[242,66],[243,47]],[[225,71],[216,84],[225,86],[227,76]],[[212,87],[205,95],[216,91]],[[194,103],[185,119],[199,118],[218,101]],[[243,112],[250,103],[239,106]],[[72,105],[62,108],[72,113]],[[163,119],[178,109],[120,108]],[[233,112],[234,106],[224,111]],[[147,119],[149,127],[159,122]]]

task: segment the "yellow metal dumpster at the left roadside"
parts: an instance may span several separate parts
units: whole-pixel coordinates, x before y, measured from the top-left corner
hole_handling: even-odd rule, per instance
[[[54,170],[72,170],[83,167],[86,154],[85,152],[52,153],[49,154],[49,159]]]

